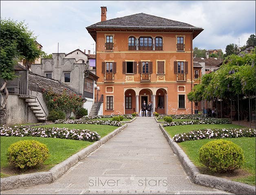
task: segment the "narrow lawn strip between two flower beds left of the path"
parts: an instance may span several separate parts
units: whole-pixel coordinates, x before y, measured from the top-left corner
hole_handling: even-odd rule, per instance
[[[59,127],[68,129],[88,129],[90,131],[96,131],[102,138],[111,133],[118,127],[111,125],[93,125],[93,124],[50,124],[41,127]],[[38,127],[35,127],[38,128]]]

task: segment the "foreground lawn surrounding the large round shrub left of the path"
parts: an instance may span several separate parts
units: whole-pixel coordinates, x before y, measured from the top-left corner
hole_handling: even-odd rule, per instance
[[[43,170],[38,169],[38,171],[45,171],[51,169],[54,165],[66,160],[68,157],[77,153],[81,149],[93,144],[93,142],[87,142],[82,140],[68,140],[68,139],[59,139],[59,138],[40,138],[40,137],[0,137],[1,142],[1,169],[3,167],[8,167],[7,161],[7,149],[9,146],[20,140],[37,140],[41,143],[47,145],[50,151],[50,157],[44,162],[46,165]],[[5,173],[1,171],[1,177],[6,177]]]

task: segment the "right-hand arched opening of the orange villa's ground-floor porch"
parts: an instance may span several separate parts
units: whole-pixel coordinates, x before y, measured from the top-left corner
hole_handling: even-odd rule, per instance
[[[156,103],[155,111],[159,114],[166,114],[168,108],[167,91],[160,88],[156,92]]]

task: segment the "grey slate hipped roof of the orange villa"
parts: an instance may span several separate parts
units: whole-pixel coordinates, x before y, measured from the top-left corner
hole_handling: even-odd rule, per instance
[[[203,28],[201,27],[195,27],[191,24],[187,24],[184,22],[178,22],[175,20],[169,20],[166,18],[161,18],[154,15],[149,15],[146,13],[137,13],[133,15],[124,16],[121,18],[114,18],[102,22],[98,22],[96,24],[90,25],[86,27],[88,32],[91,34],[91,36],[95,39],[95,32],[97,29],[101,28],[120,28],[120,29],[133,29],[136,31],[145,31],[148,29],[148,31],[177,31],[179,29],[179,32],[192,32],[193,38],[196,37],[199,33],[203,31]]]

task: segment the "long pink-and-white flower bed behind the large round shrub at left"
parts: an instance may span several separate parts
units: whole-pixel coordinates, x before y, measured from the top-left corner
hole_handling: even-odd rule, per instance
[[[90,131],[87,129],[67,129],[58,127],[24,127],[14,126],[7,127],[1,126],[1,136],[32,136],[32,137],[43,137],[43,138],[61,138],[71,140],[84,140],[84,141],[97,141],[100,140],[100,135],[96,131]]]

